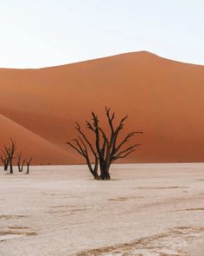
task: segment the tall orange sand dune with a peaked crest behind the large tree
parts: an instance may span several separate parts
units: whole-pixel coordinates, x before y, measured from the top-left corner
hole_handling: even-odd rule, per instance
[[[124,161],[204,161],[203,85],[204,66],[137,52],[46,69],[0,69],[0,109],[67,154],[67,163],[83,161],[64,143],[75,137],[74,121],[95,110],[106,126],[105,106],[118,118],[130,115],[124,130],[144,132],[135,138],[143,145]],[[55,152],[49,162],[59,157]]]

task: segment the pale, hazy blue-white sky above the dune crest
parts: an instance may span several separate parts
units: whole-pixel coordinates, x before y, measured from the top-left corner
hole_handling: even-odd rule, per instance
[[[0,67],[149,50],[204,64],[203,0],[0,0]]]

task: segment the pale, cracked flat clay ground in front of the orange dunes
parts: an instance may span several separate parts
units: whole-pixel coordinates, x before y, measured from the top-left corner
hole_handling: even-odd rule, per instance
[[[204,164],[0,174],[0,255],[204,255]]]

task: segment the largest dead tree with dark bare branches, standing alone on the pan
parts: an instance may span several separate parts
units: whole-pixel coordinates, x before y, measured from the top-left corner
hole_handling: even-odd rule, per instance
[[[131,137],[143,132],[131,132],[118,142],[118,135],[124,128],[124,121],[128,118],[125,115],[114,128],[113,120],[115,113],[110,113],[110,108],[105,108],[105,114],[108,120],[110,135],[106,135],[105,131],[99,126],[99,118],[92,112],[92,121],[86,121],[86,127],[89,128],[94,135],[94,144],[88,139],[80,128],[80,124],[76,122],[75,129],[78,132],[78,139],[73,140],[74,143],[67,142],[73,149],[86,159],[86,164],[95,180],[111,180],[109,169],[113,161],[124,158],[134,152],[140,144],[134,144],[123,148],[124,144],[130,141]],[[95,145],[95,146],[93,146]],[[90,153],[94,158],[94,165],[90,158]],[[100,169],[100,173],[99,173]]]

